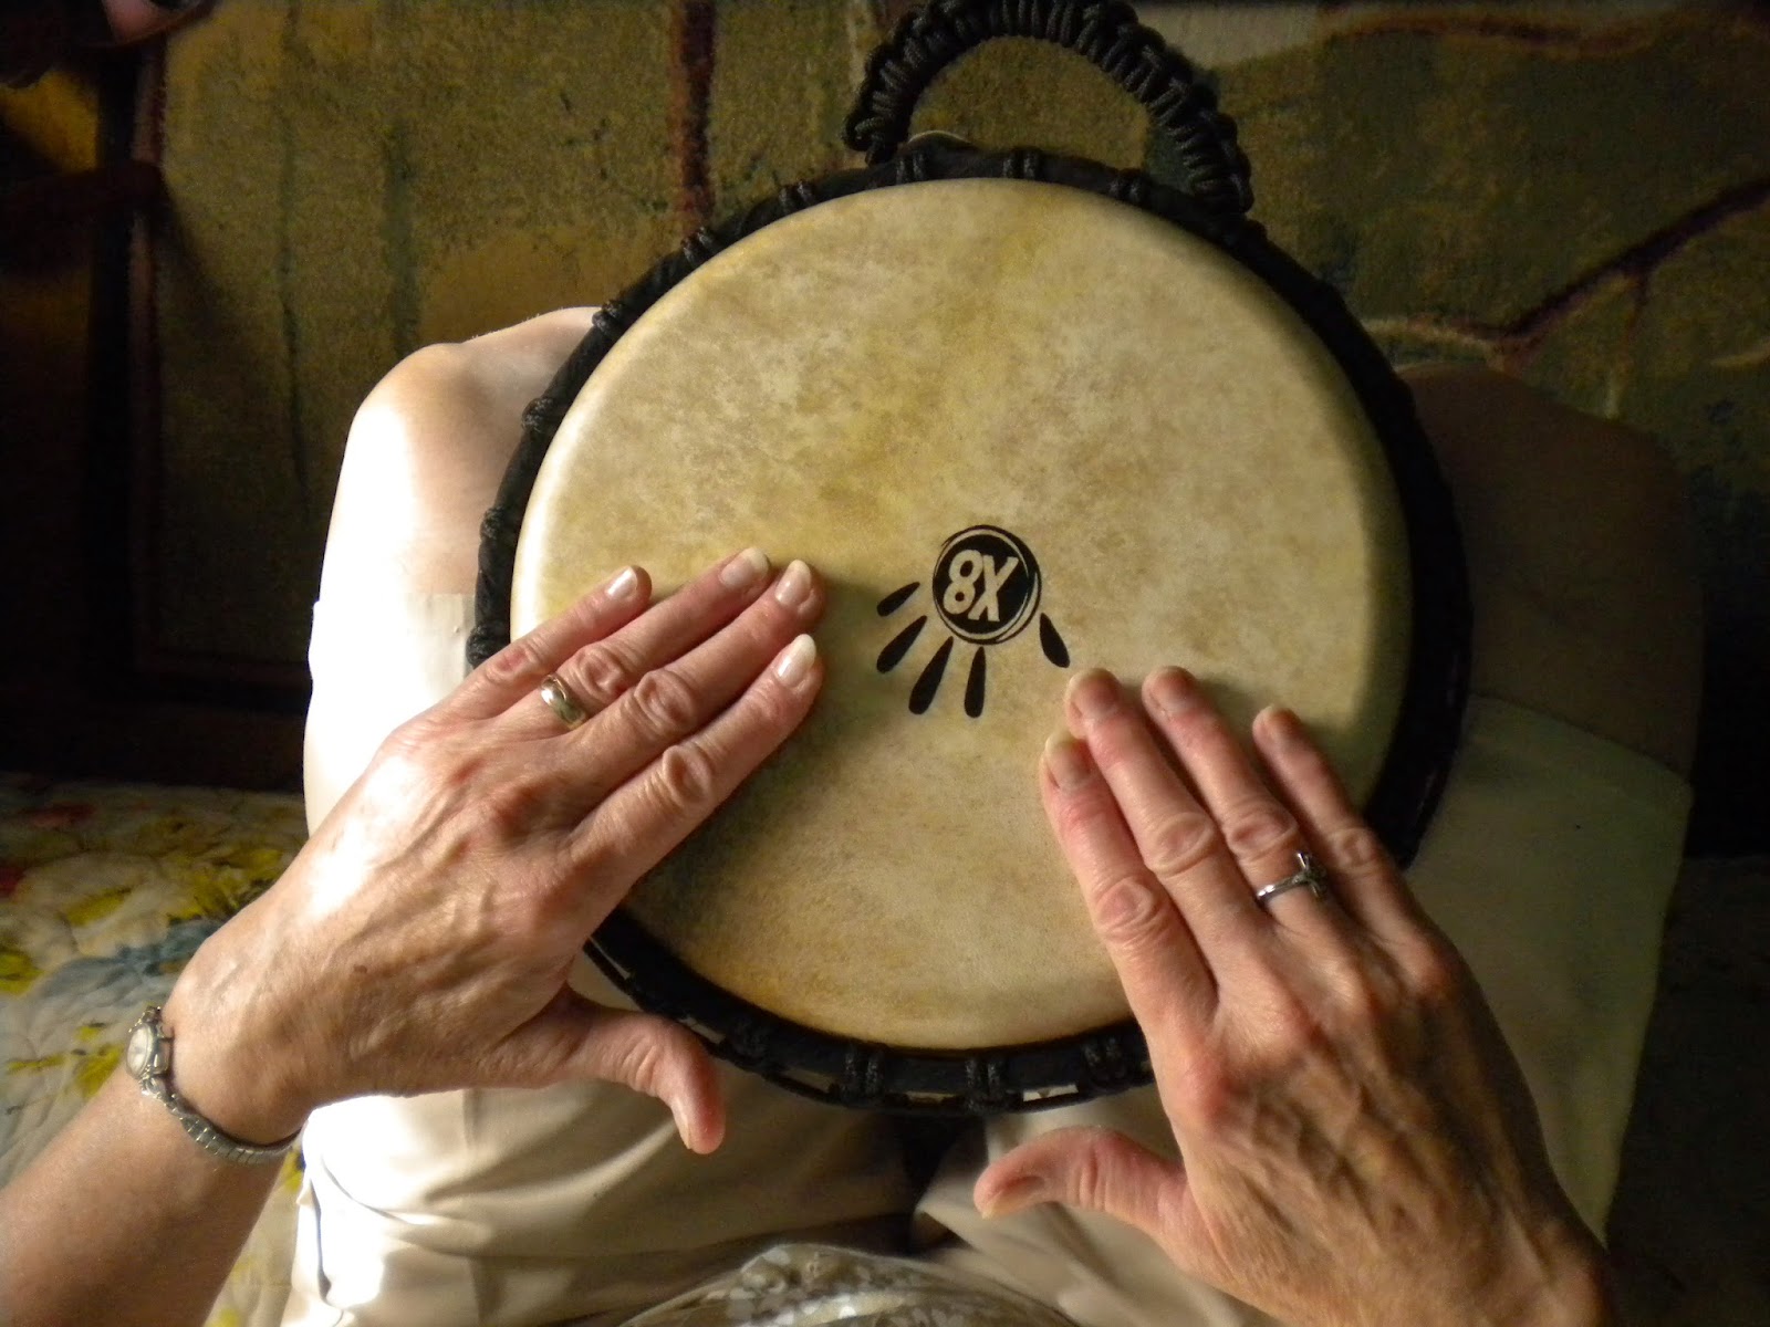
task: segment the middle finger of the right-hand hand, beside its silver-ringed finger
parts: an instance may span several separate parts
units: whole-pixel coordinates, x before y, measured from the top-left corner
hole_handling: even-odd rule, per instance
[[[1214,950],[1237,938],[1244,943],[1264,920],[1216,821],[1156,747],[1142,708],[1129,702],[1117,678],[1101,671],[1078,674],[1066,701],[1069,727],[1087,741],[1112,787],[1142,863],[1181,909],[1205,961],[1216,966]]]

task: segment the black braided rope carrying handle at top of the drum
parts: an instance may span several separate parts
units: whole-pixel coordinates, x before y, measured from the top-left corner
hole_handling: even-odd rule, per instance
[[[1220,216],[1253,205],[1248,157],[1235,122],[1159,34],[1120,0],[933,0],[899,19],[867,58],[843,142],[889,161],[910,134],[910,117],[935,76],[997,37],[1050,41],[1090,60],[1149,111],[1181,152],[1182,188]]]

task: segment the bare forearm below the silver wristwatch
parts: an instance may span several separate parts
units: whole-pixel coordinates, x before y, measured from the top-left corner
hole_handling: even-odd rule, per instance
[[[278,1170],[211,1157],[113,1074],[0,1191],[0,1322],[200,1323]]]

